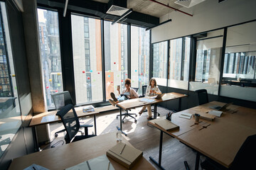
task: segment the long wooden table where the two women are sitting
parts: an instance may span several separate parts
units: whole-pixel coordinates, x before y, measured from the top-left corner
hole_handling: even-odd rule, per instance
[[[164,101],[171,101],[174,99],[179,99],[178,110],[180,111],[181,110],[181,98],[186,97],[186,96],[187,96],[186,94],[178,94],[178,93],[171,92],[171,93],[164,94],[164,96],[162,98],[156,99],[154,102],[151,102],[151,103],[142,102],[141,101],[142,98],[133,98],[131,100],[122,101],[120,103],[117,103],[117,107],[119,108],[119,111],[120,111],[120,130],[122,131],[122,109],[129,110],[132,108],[137,108],[137,107],[146,106],[149,104],[154,104],[154,119],[155,119],[157,103],[161,103]],[[148,98],[148,97],[144,97],[144,98]]]

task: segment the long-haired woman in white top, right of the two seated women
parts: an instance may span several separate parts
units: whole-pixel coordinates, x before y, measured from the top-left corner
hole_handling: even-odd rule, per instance
[[[149,81],[149,86],[146,87],[146,96],[156,96],[157,94],[161,94],[161,91],[159,90],[159,87],[156,85],[156,79],[152,78]],[[139,111],[139,115],[142,115],[143,111],[147,108],[148,111],[148,120],[151,120],[151,105],[143,106],[142,110]]]

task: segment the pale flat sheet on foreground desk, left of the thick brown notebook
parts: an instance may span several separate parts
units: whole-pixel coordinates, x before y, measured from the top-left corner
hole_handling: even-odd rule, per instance
[[[105,154],[103,154],[100,157],[96,157],[94,159],[90,159],[88,161],[82,162],[81,164],[77,164],[75,166],[71,166],[70,168],[66,170],[77,170],[77,169],[97,169],[97,170],[107,170],[112,169],[114,170],[114,167],[110,163],[110,160],[107,158]]]

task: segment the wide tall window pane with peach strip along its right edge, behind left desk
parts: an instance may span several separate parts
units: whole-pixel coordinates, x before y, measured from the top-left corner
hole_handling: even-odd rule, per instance
[[[100,20],[71,15],[76,103],[102,101]]]

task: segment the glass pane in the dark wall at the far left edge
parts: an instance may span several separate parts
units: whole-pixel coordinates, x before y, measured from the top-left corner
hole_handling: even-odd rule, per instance
[[[0,158],[21,126],[14,60],[6,16],[0,2]]]

